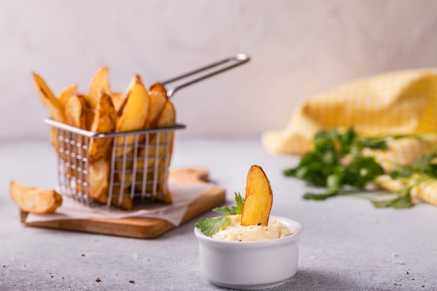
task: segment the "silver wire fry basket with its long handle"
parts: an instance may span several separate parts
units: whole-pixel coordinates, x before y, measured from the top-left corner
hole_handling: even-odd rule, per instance
[[[246,54],[237,54],[161,83],[168,85],[185,80],[183,84],[167,91],[168,98],[171,98],[179,89],[247,61],[249,57]],[[199,73],[202,73],[200,77],[186,81],[188,77]],[[168,128],[94,133],[52,119],[44,119],[44,122],[51,126],[50,135],[57,152],[58,184],[62,195],[89,207],[114,205],[131,209],[126,207],[126,201],[133,204],[167,201],[173,135],[175,130],[186,128],[184,124]],[[112,144],[108,158],[90,161],[91,142],[102,139]]]

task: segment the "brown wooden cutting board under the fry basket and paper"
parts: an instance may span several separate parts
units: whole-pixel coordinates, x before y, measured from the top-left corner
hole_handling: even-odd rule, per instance
[[[174,179],[180,184],[206,183],[209,181],[209,173],[204,169],[180,169],[170,172],[170,179]],[[225,202],[225,188],[213,185],[197,200],[188,205],[184,218],[182,218],[182,223],[211,210],[219,204],[223,204],[223,202]],[[20,221],[24,223],[24,225],[48,227],[59,230],[109,234],[138,239],[152,239],[176,227],[172,223],[163,219],[141,217],[119,219],[86,218],[27,223],[27,214],[27,212],[20,211]]]

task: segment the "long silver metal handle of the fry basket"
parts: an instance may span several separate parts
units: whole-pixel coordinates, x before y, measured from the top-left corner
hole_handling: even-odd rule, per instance
[[[172,82],[182,80],[182,79],[184,79],[186,77],[190,77],[192,75],[196,75],[198,73],[202,73],[205,70],[209,70],[209,69],[212,69],[212,68],[215,68],[215,67],[218,67],[218,66],[221,66],[221,65],[229,63],[228,66],[225,66],[225,67],[222,67],[222,68],[217,68],[216,70],[213,70],[212,72],[206,73],[205,75],[201,75],[200,77],[196,77],[193,80],[190,80],[190,81],[185,82],[183,84],[179,84],[176,87],[168,90],[167,91],[167,96],[168,96],[168,98],[171,98],[173,96],[173,94],[175,94],[175,92],[178,91],[179,89],[182,89],[184,87],[187,87],[187,86],[189,86],[191,84],[194,84],[194,83],[197,83],[199,81],[205,80],[205,79],[207,79],[209,77],[212,77],[214,75],[218,75],[219,73],[223,73],[225,70],[230,70],[231,68],[235,68],[237,66],[245,64],[249,60],[250,60],[250,57],[247,54],[236,54],[233,57],[228,57],[228,58],[223,59],[221,61],[217,61],[214,64],[210,64],[208,66],[204,66],[202,68],[198,68],[197,70],[193,70],[191,72],[185,73],[184,75],[179,75],[177,77],[173,77],[172,79],[166,80],[166,81],[161,82],[161,83],[163,85],[167,85],[167,84],[170,84]]]

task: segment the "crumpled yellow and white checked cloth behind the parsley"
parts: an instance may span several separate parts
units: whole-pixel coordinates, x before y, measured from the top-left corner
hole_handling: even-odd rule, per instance
[[[411,165],[430,154],[437,144],[437,70],[377,75],[308,98],[286,128],[263,133],[262,144],[273,154],[301,155],[313,148],[319,130],[350,126],[362,136],[431,133],[425,142],[395,140],[389,151],[369,151],[387,170],[393,163]],[[412,191],[413,196],[437,204],[437,181],[426,186]]]

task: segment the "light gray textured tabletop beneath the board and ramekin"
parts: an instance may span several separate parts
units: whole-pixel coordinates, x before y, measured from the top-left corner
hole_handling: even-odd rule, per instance
[[[54,159],[46,141],[0,144],[0,290],[224,290],[200,273],[197,218],[149,240],[22,225],[9,181],[56,187]],[[437,207],[375,209],[353,197],[302,200],[306,186],[282,175],[297,161],[267,154],[257,139],[181,138],[172,168],[206,167],[227,189],[229,205],[235,191],[244,193],[251,165],[265,170],[274,191],[272,214],[304,225],[299,270],[272,290],[437,290]]]

